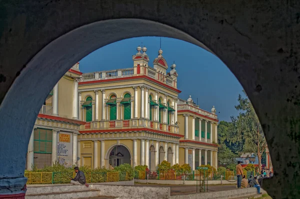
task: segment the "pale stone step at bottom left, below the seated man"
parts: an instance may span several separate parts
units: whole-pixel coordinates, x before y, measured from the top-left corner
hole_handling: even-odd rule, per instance
[[[76,192],[60,192],[51,194],[29,194],[25,195],[25,199],[82,199],[99,197],[97,190],[84,190]],[[106,197],[107,198],[107,197]]]

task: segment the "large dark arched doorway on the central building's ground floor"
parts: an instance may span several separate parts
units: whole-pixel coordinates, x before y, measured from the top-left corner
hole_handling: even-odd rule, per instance
[[[117,167],[122,164],[131,164],[130,152],[122,145],[114,146],[109,152],[108,159],[108,164],[112,167]]]

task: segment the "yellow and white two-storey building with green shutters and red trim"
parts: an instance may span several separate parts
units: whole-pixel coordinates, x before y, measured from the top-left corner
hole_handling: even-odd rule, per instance
[[[161,49],[152,66],[148,65],[146,47],[136,49],[131,68],[80,74],[75,64],[71,70],[78,76],[67,77],[72,81],[66,82],[66,77],[59,80],[58,88],[65,85],[66,90],[53,94],[58,102],[51,100],[51,115],[58,113],[59,117],[71,118],[68,122],[82,124],[72,134],[72,163],[92,168],[128,163],[156,170],[167,160],[171,165],[188,163],[195,169],[200,153],[203,163],[216,166],[215,109],[208,113],[189,99],[178,99],[181,91],[177,89],[176,65],[172,64],[167,72]],[[196,127],[197,121],[205,127]],[[206,139],[198,137],[199,128]],[[58,140],[52,134],[54,139]],[[52,148],[55,146],[53,142]],[[52,162],[56,159],[52,155]]]

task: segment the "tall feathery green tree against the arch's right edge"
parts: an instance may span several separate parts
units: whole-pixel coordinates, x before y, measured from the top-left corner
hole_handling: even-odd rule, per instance
[[[231,117],[235,130],[228,135],[227,140],[230,143],[241,144],[242,153],[254,153],[258,158],[260,171],[261,156],[266,147],[262,128],[250,100],[241,95],[238,95],[237,100],[238,105],[235,106],[235,109],[239,111],[239,115]]]

